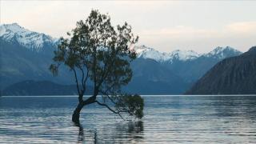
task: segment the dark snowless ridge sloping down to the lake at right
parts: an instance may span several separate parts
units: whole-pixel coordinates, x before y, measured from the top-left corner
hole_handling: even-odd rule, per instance
[[[256,94],[256,46],[218,62],[185,94]]]

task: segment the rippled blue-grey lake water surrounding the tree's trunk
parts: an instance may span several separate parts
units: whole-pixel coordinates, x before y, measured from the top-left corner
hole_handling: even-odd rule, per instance
[[[0,98],[0,143],[256,143],[256,96],[144,96],[145,117],[123,121],[76,97]]]

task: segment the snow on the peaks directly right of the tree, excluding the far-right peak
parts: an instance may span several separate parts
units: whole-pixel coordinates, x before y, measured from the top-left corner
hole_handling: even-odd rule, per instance
[[[192,60],[200,55],[193,50],[174,50],[171,53],[159,52],[153,48],[142,46],[134,46],[138,58],[150,58],[158,62],[173,62],[174,60]]]

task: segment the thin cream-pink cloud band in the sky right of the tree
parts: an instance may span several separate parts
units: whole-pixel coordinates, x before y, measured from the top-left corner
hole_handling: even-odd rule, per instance
[[[256,34],[256,22],[234,22],[219,29],[201,29],[192,26],[174,26],[173,28],[163,28],[154,30],[142,30],[142,36],[164,36],[168,38],[222,38],[230,34]]]

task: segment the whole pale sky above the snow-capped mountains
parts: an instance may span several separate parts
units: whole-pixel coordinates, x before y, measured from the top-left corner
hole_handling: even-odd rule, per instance
[[[216,46],[246,51],[256,46],[256,1],[2,1],[1,24],[17,22],[29,30],[66,36],[90,10],[109,13],[114,25],[128,22],[138,45],[156,50],[195,50]]]

